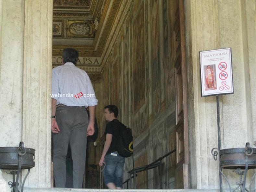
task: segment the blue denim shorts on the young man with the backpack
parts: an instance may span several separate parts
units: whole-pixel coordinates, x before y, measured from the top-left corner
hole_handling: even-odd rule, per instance
[[[104,182],[105,185],[108,183],[114,183],[116,187],[122,188],[125,158],[121,157],[117,151],[113,153],[117,154],[117,156],[108,154],[104,158],[106,163],[103,170]]]

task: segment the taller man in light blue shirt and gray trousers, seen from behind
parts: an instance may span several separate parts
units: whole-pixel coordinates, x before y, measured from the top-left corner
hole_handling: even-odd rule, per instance
[[[66,48],[62,53],[62,66],[52,70],[51,129],[55,187],[65,187],[66,184],[68,143],[73,160],[73,186],[82,187],[87,136],[94,133],[95,107],[98,100],[87,73],[75,66],[77,61],[78,52]]]

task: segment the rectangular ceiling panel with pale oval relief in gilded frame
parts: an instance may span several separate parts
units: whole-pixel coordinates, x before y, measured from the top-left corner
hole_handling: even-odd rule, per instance
[[[95,33],[93,21],[67,21],[67,38],[94,38]]]

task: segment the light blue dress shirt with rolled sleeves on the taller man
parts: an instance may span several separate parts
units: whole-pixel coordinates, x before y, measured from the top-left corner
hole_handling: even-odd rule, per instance
[[[52,70],[52,94],[57,104],[67,106],[95,106],[98,104],[87,73],[67,62]]]

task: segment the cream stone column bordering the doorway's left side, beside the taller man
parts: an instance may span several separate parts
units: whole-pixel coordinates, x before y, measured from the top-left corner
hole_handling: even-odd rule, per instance
[[[22,140],[36,150],[29,187],[51,183],[52,15],[52,0],[25,0]]]

